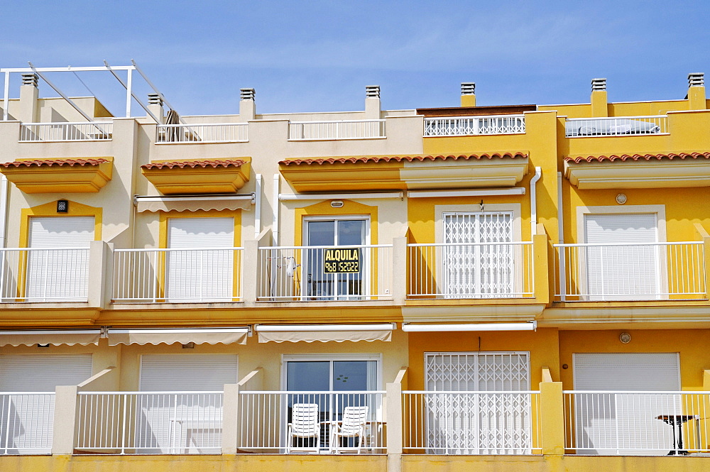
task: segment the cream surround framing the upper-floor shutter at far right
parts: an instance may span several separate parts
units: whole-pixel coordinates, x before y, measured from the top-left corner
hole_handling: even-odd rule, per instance
[[[592,214],[644,214],[654,213],[656,215],[656,235],[657,242],[665,243],[666,239],[666,215],[665,205],[602,205],[594,207],[578,206],[577,207],[577,242],[586,243],[586,216]],[[589,292],[589,285],[586,277],[586,258],[583,253],[579,253],[579,272],[580,285],[585,287],[584,291]],[[656,270],[658,278],[656,281],[657,292],[663,293],[668,291],[668,276],[667,276],[667,260],[665,251],[659,253],[656,261]],[[645,300],[668,300],[668,295],[655,295],[648,297]],[[585,295],[581,297],[584,301],[599,301],[596,295]]]

